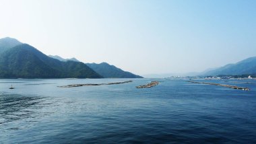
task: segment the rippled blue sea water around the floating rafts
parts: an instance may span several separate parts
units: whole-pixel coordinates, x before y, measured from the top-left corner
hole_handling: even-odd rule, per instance
[[[117,81],[0,79],[0,143],[256,143],[255,80],[57,87]]]

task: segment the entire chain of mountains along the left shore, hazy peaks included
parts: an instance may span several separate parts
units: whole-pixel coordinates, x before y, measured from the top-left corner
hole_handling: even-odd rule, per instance
[[[90,66],[89,66],[90,65]],[[141,78],[107,63],[47,56],[14,38],[0,39],[0,78]]]

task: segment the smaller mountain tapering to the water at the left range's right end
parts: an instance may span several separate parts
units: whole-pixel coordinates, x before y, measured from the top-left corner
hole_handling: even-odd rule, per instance
[[[143,78],[128,71],[123,71],[122,69],[119,69],[114,65],[109,65],[108,63],[86,63],[86,65],[96,71],[96,73],[99,73],[106,78]]]

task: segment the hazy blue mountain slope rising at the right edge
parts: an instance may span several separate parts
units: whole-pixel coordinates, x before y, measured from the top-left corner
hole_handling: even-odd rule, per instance
[[[203,75],[244,75],[256,74],[256,57],[251,57],[235,64],[228,64],[218,69],[203,73]]]

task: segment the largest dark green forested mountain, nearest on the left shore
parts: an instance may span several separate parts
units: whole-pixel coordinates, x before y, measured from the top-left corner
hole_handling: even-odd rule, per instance
[[[58,61],[29,44],[9,40],[11,41],[0,39],[3,42],[3,45],[0,44],[1,78],[102,78],[84,63]],[[18,45],[10,48],[16,44]]]

